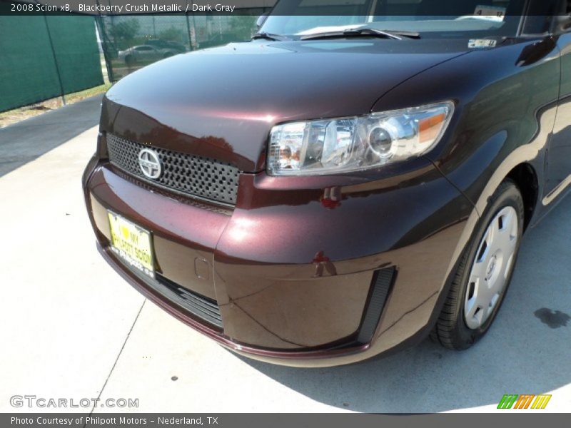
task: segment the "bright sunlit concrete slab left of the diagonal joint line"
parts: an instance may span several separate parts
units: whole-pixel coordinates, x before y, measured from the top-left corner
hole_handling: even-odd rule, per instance
[[[0,411],[14,394],[97,397],[143,304],[86,233],[96,132],[0,177]]]

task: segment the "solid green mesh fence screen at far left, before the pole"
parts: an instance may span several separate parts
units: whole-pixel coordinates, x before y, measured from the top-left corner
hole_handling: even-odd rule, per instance
[[[0,16],[0,111],[102,83],[92,16]]]

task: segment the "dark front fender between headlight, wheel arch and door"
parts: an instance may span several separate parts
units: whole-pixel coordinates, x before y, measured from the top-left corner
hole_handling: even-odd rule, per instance
[[[524,57],[534,61],[522,61]],[[469,236],[470,223],[475,225],[492,193],[517,165],[532,166],[538,198],[544,193],[545,153],[555,125],[560,75],[560,51],[549,38],[506,41],[410,78],[372,110],[401,108],[399,103],[410,104],[411,98],[419,106],[455,102],[445,136],[426,158],[473,203],[473,221],[465,231]],[[532,223],[543,210],[535,202]],[[459,243],[459,251],[464,244]]]

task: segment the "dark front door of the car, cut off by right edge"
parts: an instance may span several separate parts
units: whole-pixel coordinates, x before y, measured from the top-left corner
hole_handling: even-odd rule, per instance
[[[571,12],[571,0],[567,13]],[[547,151],[544,204],[555,200],[571,184],[571,27],[560,34],[561,83],[555,128]]]

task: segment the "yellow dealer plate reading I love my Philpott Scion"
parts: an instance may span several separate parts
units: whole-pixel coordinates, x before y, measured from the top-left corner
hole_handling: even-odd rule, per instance
[[[129,266],[155,277],[151,233],[129,220],[107,211],[111,226],[111,250]]]

